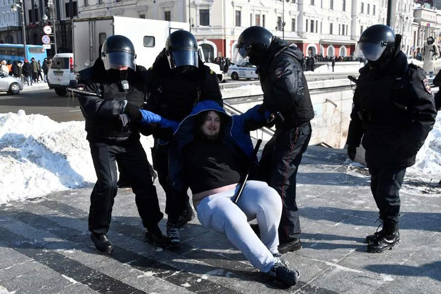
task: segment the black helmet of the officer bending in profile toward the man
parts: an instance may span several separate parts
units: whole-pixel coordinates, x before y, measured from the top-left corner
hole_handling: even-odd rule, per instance
[[[262,26],[246,28],[237,40],[235,52],[231,62],[244,63],[246,59],[254,65],[259,65],[270,50],[272,34]]]

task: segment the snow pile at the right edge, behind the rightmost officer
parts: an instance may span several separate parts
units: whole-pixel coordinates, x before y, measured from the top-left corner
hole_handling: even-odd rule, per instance
[[[421,174],[440,177],[441,174],[441,114],[427,136],[424,145],[419,149],[417,161],[408,169],[409,174]]]

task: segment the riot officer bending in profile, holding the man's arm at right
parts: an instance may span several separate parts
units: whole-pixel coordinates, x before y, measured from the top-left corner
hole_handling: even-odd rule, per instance
[[[300,222],[295,202],[295,181],[302,154],[311,138],[310,121],[314,109],[303,74],[303,53],[296,46],[261,26],[251,26],[239,36],[233,63],[241,59],[258,66],[264,93],[263,107],[280,112],[283,121],[265,145],[260,161],[265,180],[282,197],[283,210],[279,225],[279,252],[298,250]]]

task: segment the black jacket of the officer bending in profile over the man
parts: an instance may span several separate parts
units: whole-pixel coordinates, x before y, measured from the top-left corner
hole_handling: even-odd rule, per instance
[[[314,118],[302,63],[303,53],[300,49],[290,47],[288,42],[274,37],[268,58],[258,69],[264,108],[281,112],[285,118],[283,124],[287,127],[298,126]]]

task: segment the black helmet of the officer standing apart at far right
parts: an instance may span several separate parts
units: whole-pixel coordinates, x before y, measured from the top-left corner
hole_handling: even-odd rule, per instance
[[[395,35],[387,25],[369,26],[360,36],[354,58],[368,59],[372,65],[385,65],[400,50],[401,35]]]

